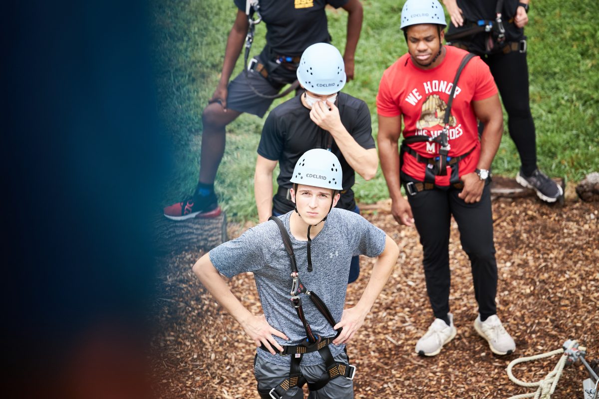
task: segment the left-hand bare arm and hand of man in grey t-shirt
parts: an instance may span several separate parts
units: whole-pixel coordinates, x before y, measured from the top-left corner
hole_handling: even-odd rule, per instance
[[[218,270],[216,270],[216,267],[210,261],[210,255],[205,254],[199,258],[193,265],[193,273],[198,276],[199,281],[210,291],[210,294],[212,294],[220,306],[224,307],[237,320],[246,334],[256,343],[256,346],[261,346],[264,343],[273,355],[276,354],[273,346],[279,351],[283,350],[273,335],[286,340],[288,337],[271,327],[264,315],[254,316],[241,304],[237,297],[233,295],[226,282],[220,277]]]

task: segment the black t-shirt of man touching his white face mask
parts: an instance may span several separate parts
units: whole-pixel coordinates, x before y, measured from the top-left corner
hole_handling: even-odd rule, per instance
[[[353,139],[362,147],[370,150],[375,148],[372,136],[370,111],[362,100],[339,93],[337,97],[337,108],[341,117],[341,123],[347,129]],[[350,190],[355,182],[355,172],[349,166],[341,154],[341,150],[332,140],[331,133],[320,129],[310,119],[310,109],[301,103],[300,96],[295,96],[277,106],[268,115],[262,128],[262,138],[258,145],[258,154],[273,161],[279,161],[280,173],[277,177],[279,187],[291,188],[289,181],[294,172],[295,163],[305,151],[313,148],[328,147],[331,141],[331,151],[341,163],[343,171],[343,190],[337,208],[352,210],[355,208],[353,191]],[[285,213],[294,209],[294,204],[274,196],[273,205],[276,211]]]

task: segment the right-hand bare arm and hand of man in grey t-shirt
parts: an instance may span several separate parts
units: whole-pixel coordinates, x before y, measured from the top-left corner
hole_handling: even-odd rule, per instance
[[[356,306],[344,309],[341,321],[333,327],[335,330],[343,327],[341,334],[333,341],[335,345],[349,342],[356,331],[362,327],[364,319],[373,307],[374,301],[379,297],[380,291],[383,290],[389,276],[391,276],[399,255],[400,250],[397,248],[395,241],[391,237],[386,236],[385,249],[379,255],[376,263],[374,263],[370,280],[368,280],[368,284],[364,288],[364,293],[362,293],[360,300]]]

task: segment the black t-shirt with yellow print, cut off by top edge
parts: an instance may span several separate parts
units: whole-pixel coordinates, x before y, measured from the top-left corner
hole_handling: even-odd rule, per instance
[[[234,0],[246,12],[245,0]],[[325,6],[338,8],[348,0],[260,0],[267,44],[280,56],[301,56],[314,43],[329,42]],[[257,25],[259,29],[262,24]]]

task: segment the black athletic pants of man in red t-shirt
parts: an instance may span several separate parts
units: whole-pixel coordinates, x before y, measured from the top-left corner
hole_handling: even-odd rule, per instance
[[[493,243],[491,188],[485,184],[477,203],[465,203],[458,197],[461,190],[435,188],[408,195],[416,229],[424,252],[426,291],[435,318],[444,319],[449,312],[449,224],[451,215],[459,227],[462,248],[470,258],[474,297],[483,319],[497,312],[497,263]]]

